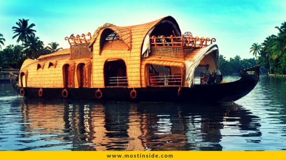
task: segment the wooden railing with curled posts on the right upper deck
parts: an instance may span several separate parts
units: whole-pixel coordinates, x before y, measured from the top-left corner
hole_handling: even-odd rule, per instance
[[[188,37],[184,37],[182,35],[181,37],[176,37],[171,35],[170,37],[165,36],[152,36],[150,38],[150,44],[151,46],[192,46],[194,48],[203,48],[206,47],[213,42],[216,42],[215,38],[204,38],[204,37],[193,37],[192,35]]]

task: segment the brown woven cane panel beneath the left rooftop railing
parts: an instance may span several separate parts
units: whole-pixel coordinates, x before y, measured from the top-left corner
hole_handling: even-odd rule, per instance
[[[92,53],[88,46],[90,43],[79,43],[70,46],[70,59],[90,58]]]

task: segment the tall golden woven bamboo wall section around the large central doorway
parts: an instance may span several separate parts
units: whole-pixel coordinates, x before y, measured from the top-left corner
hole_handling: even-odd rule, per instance
[[[126,72],[128,77],[128,87],[135,88],[141,87],[141,46],[144,38],[148,31],[157,24],[159,20],[142,24],[129,26],[131,30],[131,50],[102,50],[100,54],[100,37],[102,34],[102,29],[97,37],[96,42],[93,44],[93,81],[91,87],[101,88],[104,85],[104,63],[107,59],[123,59],[126,65]],[[121,27],[108,27],[118,33]],[[123,27],[126,28],[126,27]],[[126,30],[126,29],[124,29]],[[126,32],[125,32],[126,33]],[[125,38],[126,37],[126,38]],[[127,35],[125,34],[125,39],[127,40]],[[126,41],[127,45],[129,42]]]

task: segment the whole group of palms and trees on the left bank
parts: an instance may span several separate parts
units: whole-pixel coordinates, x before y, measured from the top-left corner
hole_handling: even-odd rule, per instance
[[[36,59],[40,55],[53,53],[62,48],[59,48],[57,42],[51,42],[48,46],[44,46],[39,37],[36,37],[36,30],[33,29],[34,23],[29,25],[29,19],[19,19],[16,25],[12,27],[17,44],[8,45],[2,50],[6,41],[3,34],[0,33],[0,67],[20,69],[23,61],[27,58]]]

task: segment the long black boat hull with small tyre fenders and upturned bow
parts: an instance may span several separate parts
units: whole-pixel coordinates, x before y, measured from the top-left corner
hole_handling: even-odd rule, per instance
[[[248,94],[257,84],[257,76],[248,75],[240,80],[209,85],[195,85],[193,87],[179,86],[152,86],[134,88],[136,97],[131,98],[133,88],[100,88],[101,101],[179,101],[179,102],[231,102]],[[68,95],[63,98],[64,88],[43,88],[39,97],[40,88],[23,88],[27,98],[44,99],[73,99],[73,100],[98,100],[95,96],[99,88],[67,88]]]

